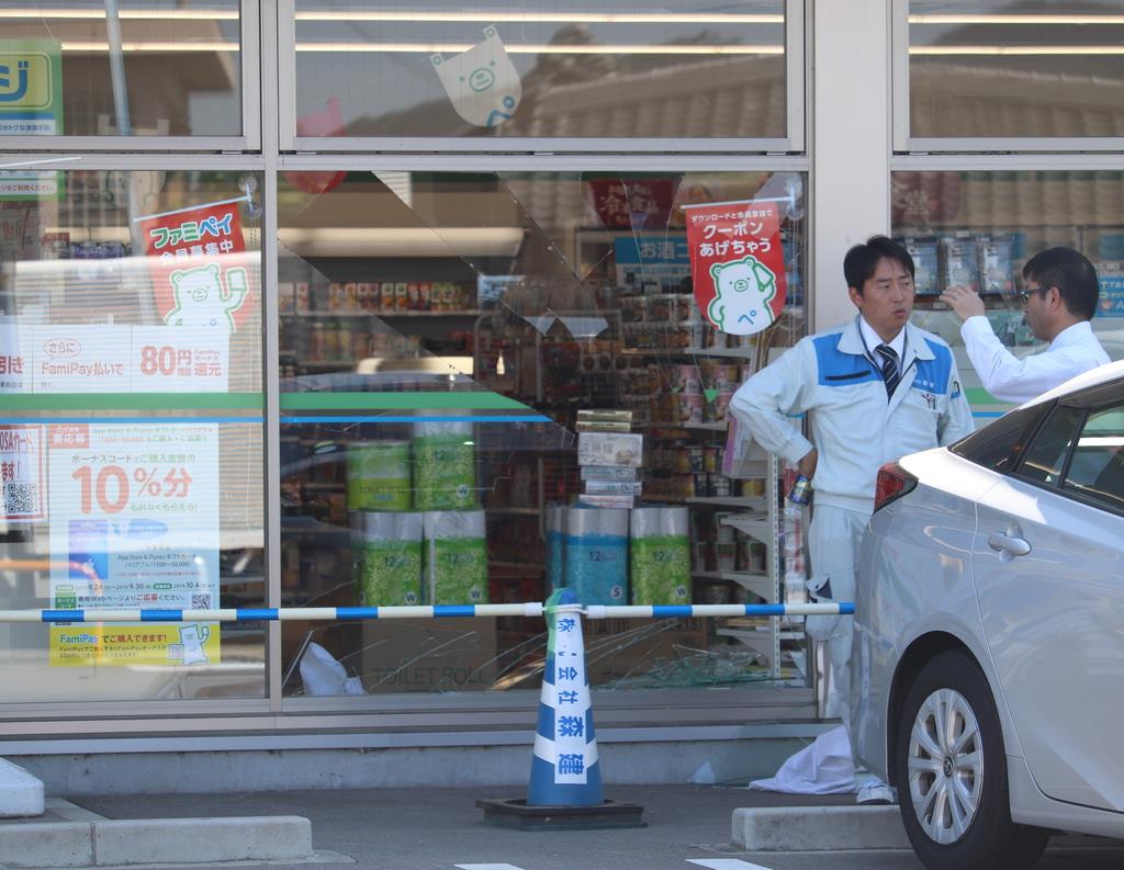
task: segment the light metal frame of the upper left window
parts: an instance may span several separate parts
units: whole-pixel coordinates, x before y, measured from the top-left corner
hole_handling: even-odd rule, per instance
[[[261,0],[238,0],[242,135],[238,136],[4,136],[6,152],[256,152],[262,148],[263,108],[270,97],[262,92],[263,39]],[[264,97],[264,99],[263,99]],[[268,116],[266,116],[268,117]],[[11,156],[10,154],[8,155]],[[8,164],[8,157],[3,163]],[[67,161],[63,165],[70,165]],[[115,167],[119,169],[119,167]]]

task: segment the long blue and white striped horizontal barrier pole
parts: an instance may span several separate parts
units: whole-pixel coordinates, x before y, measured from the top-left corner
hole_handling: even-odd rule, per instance
[[[847,616],[854,604],[767,605],[574,605],[587,619],[682,619],[723,616]],[[347,619],[447,619],[496,616],[543,616],[538,601],[507,605],[429,605],[418,607],[239,607],[199,609],[87,608],[66,610],[0,610],[0,623],[275,623]]]

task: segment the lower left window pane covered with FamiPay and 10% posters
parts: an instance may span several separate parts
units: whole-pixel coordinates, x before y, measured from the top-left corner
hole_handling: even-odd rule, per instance
[[[48,174],[0,201],[0,607],[261,606],[261,179]],[[262,625],[0,631],[7,701],[264,695]]]

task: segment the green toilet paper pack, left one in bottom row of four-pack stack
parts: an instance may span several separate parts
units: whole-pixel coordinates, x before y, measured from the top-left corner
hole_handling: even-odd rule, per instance
[[[359,510],[351,527],[360,606],[422,604],[422,514]]]

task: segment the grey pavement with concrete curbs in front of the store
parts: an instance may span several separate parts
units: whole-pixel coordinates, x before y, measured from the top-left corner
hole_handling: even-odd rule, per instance
[[[697,866],[922,870],[909,850],[870,851],[872,844],[853,837],[843,850],[837,848],[843,843],[833,843],[843,830],[837,825],[855,830],[852,795],[789,796],[733,786],[607,786],[605,794],[613,800],[643,805],[647,827],[523,832],[486,825],[475,800],[525,797],[526,790],[518,788],[143,795],[84,797],[73,804],[48,797],[44,816],[0,819],[0,868],[296,870],[317,864],[344,870],[452,870],[457,866],[475,866],[474,870],[692,870]],[[751,808],[774,810],[763,827],[772,825],[779,851],[756,851],[732,842],[738,814]],[[896,813],[892,807],[871,809],[883,819]],[[825,810],[832,818],[817,819]],[[792,812],[796,818],[786,817]],[[13,839],[13,832],[21,828],[31,831],[22,840]],[[57,860],[66,858],[66,843],[74,845],[74,835],[83,831],[89,852]],[[91,836],[92,831],[100,833]],[[809,834],[819,837],[818,846],[801,845],[797,839]],[[794,846],[812,851],[792,851]],[[832,851],[814,851],[824,848]],[[1043,870],[1124,866],[1124,844],[1113,841],[1055,837],[1051,853],[1057,857]]]

